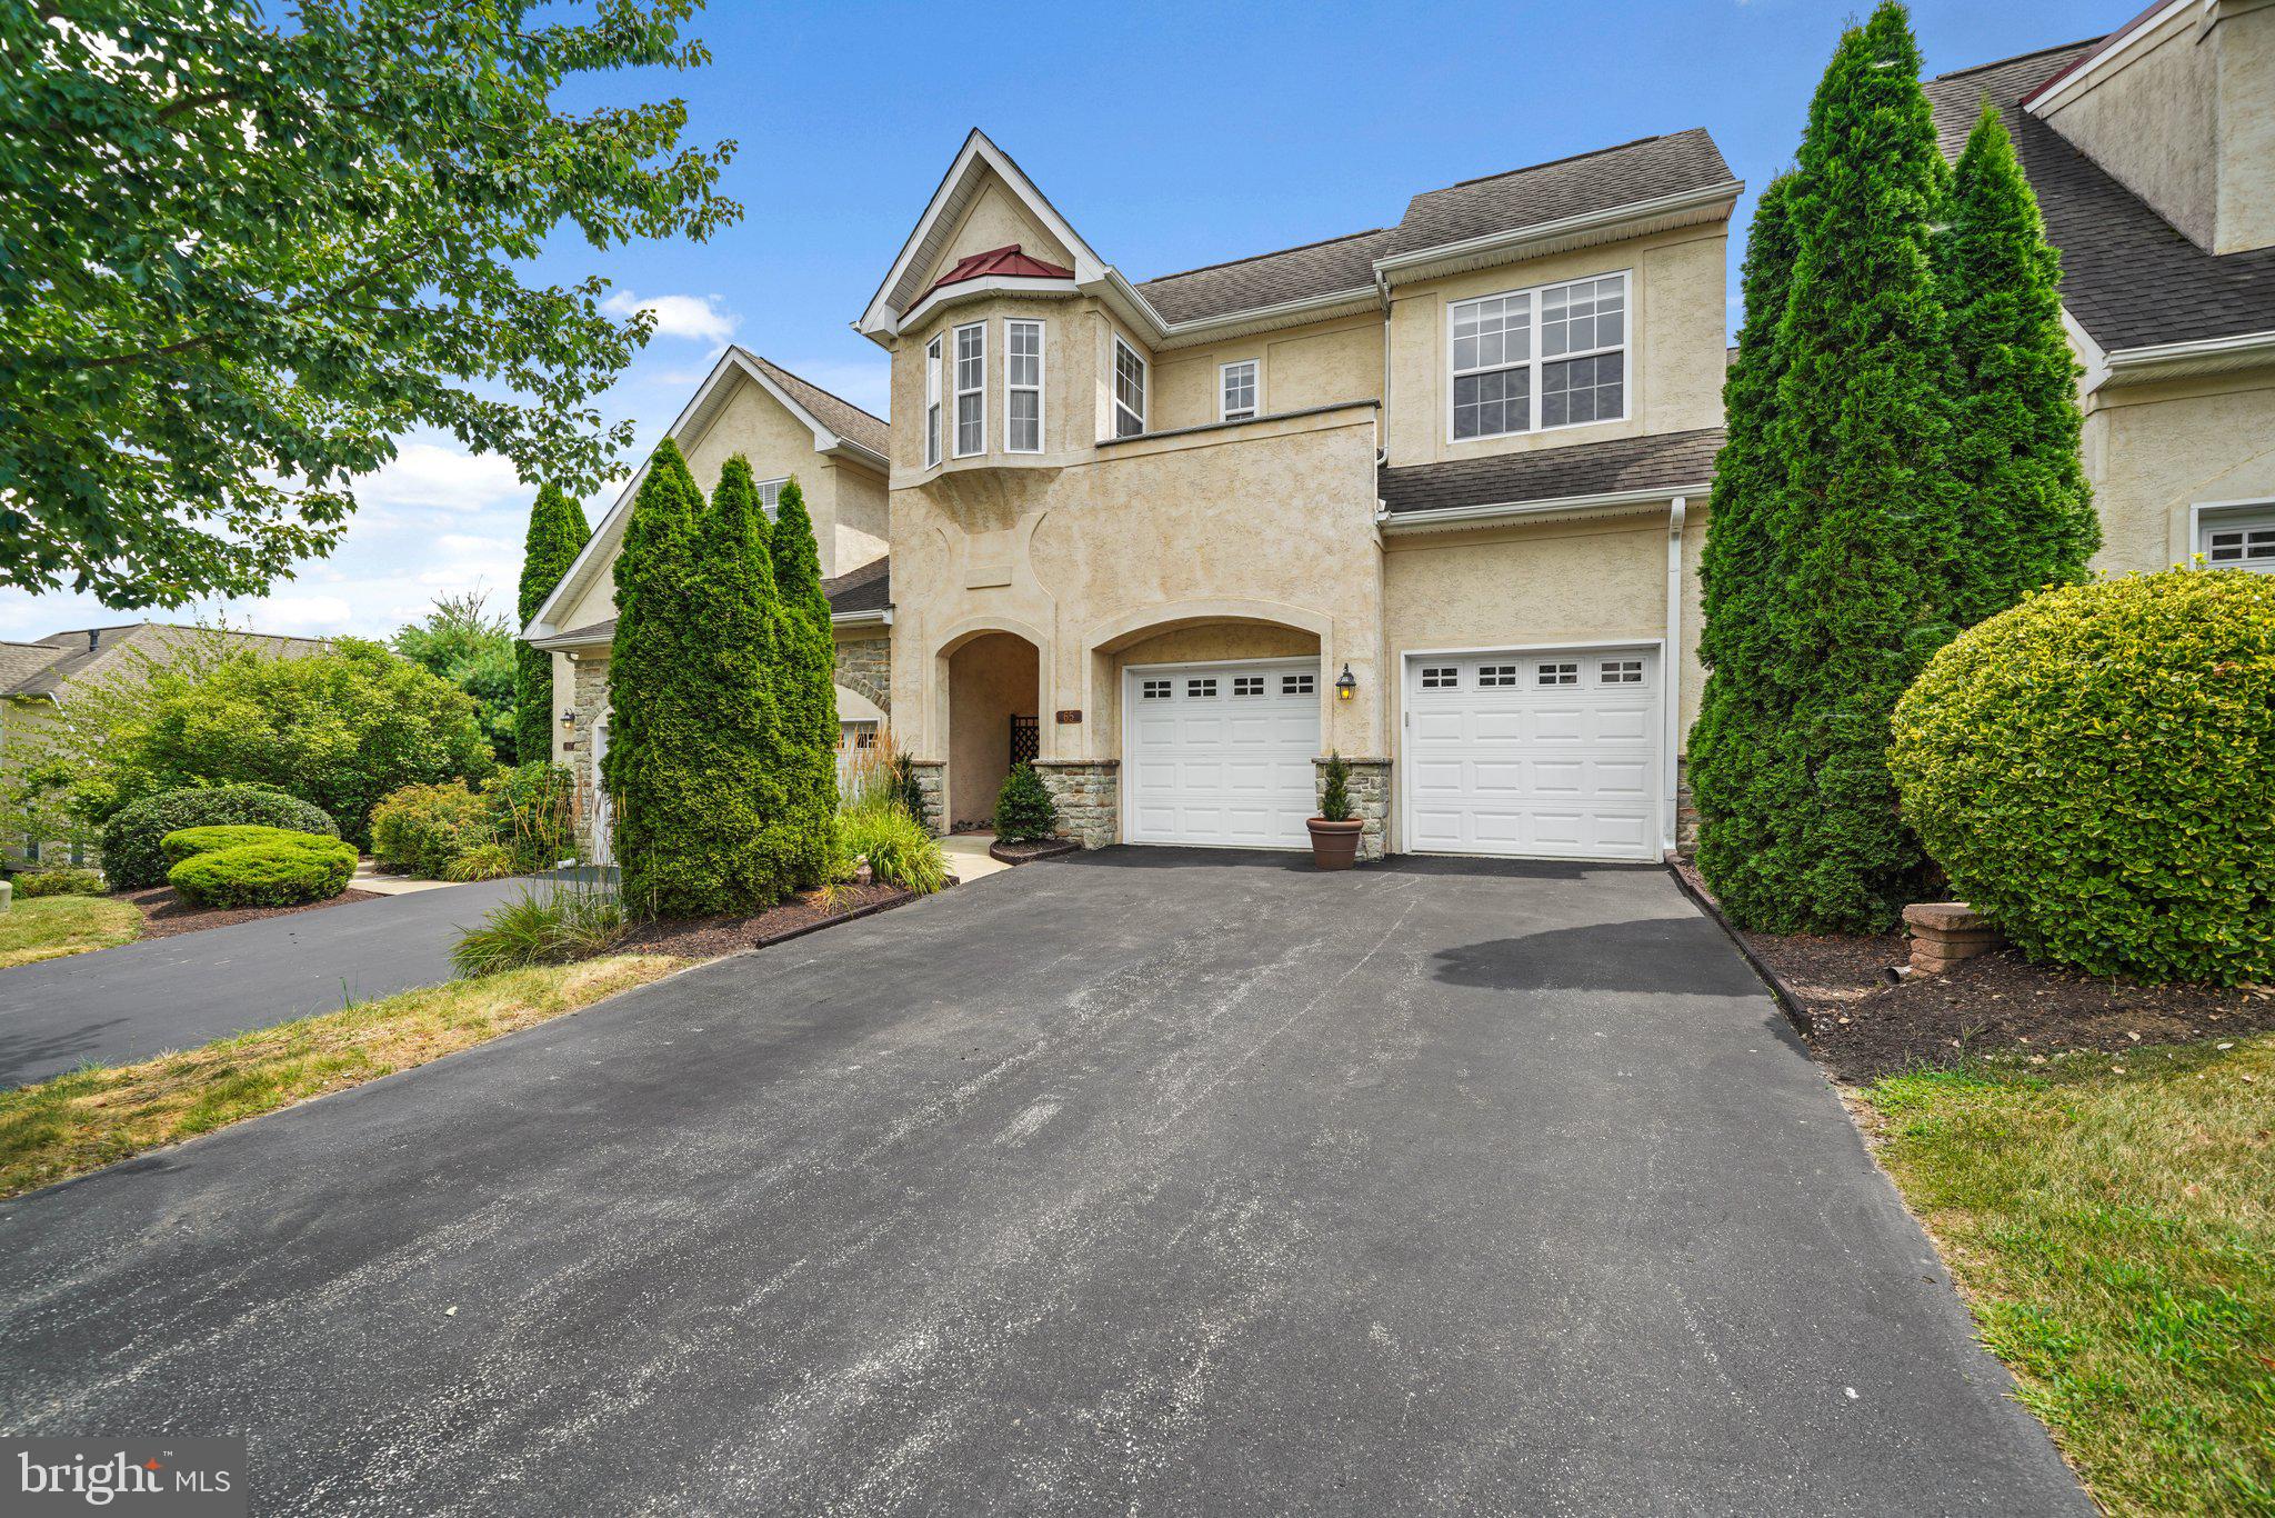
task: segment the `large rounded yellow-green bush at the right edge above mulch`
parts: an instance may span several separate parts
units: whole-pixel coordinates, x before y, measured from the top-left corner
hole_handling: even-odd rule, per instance
[[[1906,822],[2025,954],[2275,981],[2275,576],[2034,596],[1936,653],[1893,735]]]

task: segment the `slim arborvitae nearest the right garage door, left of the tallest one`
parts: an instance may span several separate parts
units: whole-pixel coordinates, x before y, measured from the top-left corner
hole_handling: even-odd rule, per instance
[[[1781,831],[1790,831],[1806,785],[1779,749],[1788,735],[1793,683],[1784,669],[1777,605],[1786,576],[1786,469],[1770,446],[1777,389],[1786,373],[1777,330],[1793,287],[1793,175],[1754,205],[1745,241],[1738,357],[1722,382],[1729,437],[1715,457],[1699,560],[1706,692],[1690,728],[1690,794],[1699,808],[1699,869],[1724,908],[1747,922],[1774,917]],[[1800,792],[1800,794],[1795,794]]]

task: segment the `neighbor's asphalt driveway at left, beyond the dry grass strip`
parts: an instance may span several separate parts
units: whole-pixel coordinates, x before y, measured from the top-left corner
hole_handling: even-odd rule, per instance
[[[457,929],[523,885],[441,885],[0,970],[0,1088],[448,981]]]

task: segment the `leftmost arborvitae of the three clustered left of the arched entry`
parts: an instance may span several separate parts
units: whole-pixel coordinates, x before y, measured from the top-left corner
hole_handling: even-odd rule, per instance
[[[708,913],[714,890],[703,844],[712,797],[687,765],[712,721],[694,678],[710,630],[687,594],[701,512],[703,492],[667,437],[648,460],[617,553],[603,760],[623,901],[657,917]]]

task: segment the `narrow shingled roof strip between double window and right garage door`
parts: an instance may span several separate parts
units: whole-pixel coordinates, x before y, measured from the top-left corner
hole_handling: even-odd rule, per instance
[[[1470,505],[1577,501],[1649,489],[1679,489],[1713,478],[1722,428],[1615,437],[1574,448],[1495,453],[1447,464],[1404,464],[1376,476],[1392,517]]]

